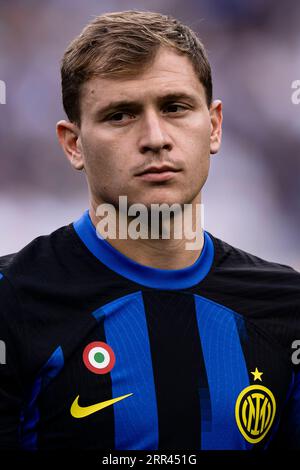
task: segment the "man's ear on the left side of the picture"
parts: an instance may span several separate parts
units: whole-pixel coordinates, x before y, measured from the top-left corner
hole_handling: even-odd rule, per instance
[[[82,170],[84,161],[79,127],[72,122],[59,121],[56,124],[56,134],[72,167],[75,170]]]

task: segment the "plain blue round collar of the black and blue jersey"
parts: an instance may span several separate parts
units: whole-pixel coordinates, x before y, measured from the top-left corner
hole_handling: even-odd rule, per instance
[[[121,276],[147,287],[172,290],[192,287],[205,278],[214,258],[214,245],[206,231],[201,255],[194,264],[183,269],[158,269],[133,261],[100,237],[88,210],[73,223],[73,227],[88,250],[101,263]]]

